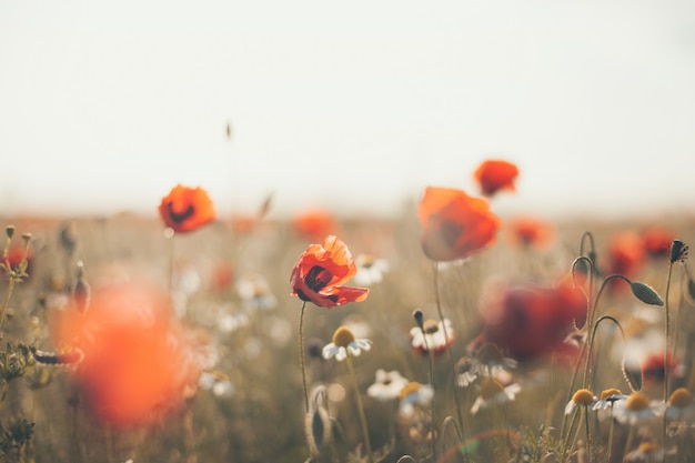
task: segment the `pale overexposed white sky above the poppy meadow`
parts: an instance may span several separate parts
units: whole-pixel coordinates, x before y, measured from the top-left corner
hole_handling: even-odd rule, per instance
[[[0,0],[0,215],[400,211],[486,158],[510,213],[695,214],[695,2]]]

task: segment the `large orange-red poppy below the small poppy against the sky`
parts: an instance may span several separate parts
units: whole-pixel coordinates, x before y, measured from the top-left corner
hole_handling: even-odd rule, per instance
[[[501,225],[487,201],[461,190],[427,187],[417,210],[422,249],[433,261],[465,259],[492,244]]]

